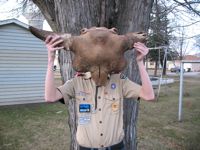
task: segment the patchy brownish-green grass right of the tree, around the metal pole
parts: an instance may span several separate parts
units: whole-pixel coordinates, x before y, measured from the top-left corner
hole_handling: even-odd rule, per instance
[[[183,120],[178,122],[179,83],[163,86],[157,102],[141,101],[139,150],[200,150],[200,78],[185,78]]]

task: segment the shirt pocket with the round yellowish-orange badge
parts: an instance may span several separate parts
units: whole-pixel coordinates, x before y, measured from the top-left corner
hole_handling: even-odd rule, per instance
[[[105,109],[110,110],[111,114],[118,114],[121,109],[121,98],[119,95],[105,96]]]

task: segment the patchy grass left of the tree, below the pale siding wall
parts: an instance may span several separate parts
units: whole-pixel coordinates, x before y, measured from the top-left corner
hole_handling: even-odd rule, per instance
[[[0,107],[0,150],[67,150],[66,116],[57,103]]]

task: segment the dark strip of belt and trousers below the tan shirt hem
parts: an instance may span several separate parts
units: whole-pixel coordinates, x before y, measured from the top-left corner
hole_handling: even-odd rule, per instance
[[[122,148],[124,148],[123,141],[121,141],[118,144],[115,144],[109,147],[102,147],[102,148],[89,148],[89,147],[80,146],[79,150],[121,150]]]

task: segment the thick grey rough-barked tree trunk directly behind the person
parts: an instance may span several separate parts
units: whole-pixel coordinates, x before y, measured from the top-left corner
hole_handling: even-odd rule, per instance
[[[54,31],[79,34],[86,27],[116,27],[119,33],[147,31],[149,14],[153,0],[33,0],[40,8]],[[74,71],[71,66],[71,53],[61,51],[59,62],[63,83],[72,78]],[[128,66],[124,73],[133,81],[140,83],[138,68],[133,51],[126,53]],[[75,102],[68,104],[69,127],[71,130],[71,150],[77,149],[75,139],[76,113]],[[126,150],[136,149],[136,119],[138,102],[124,102],[124,129]]]

